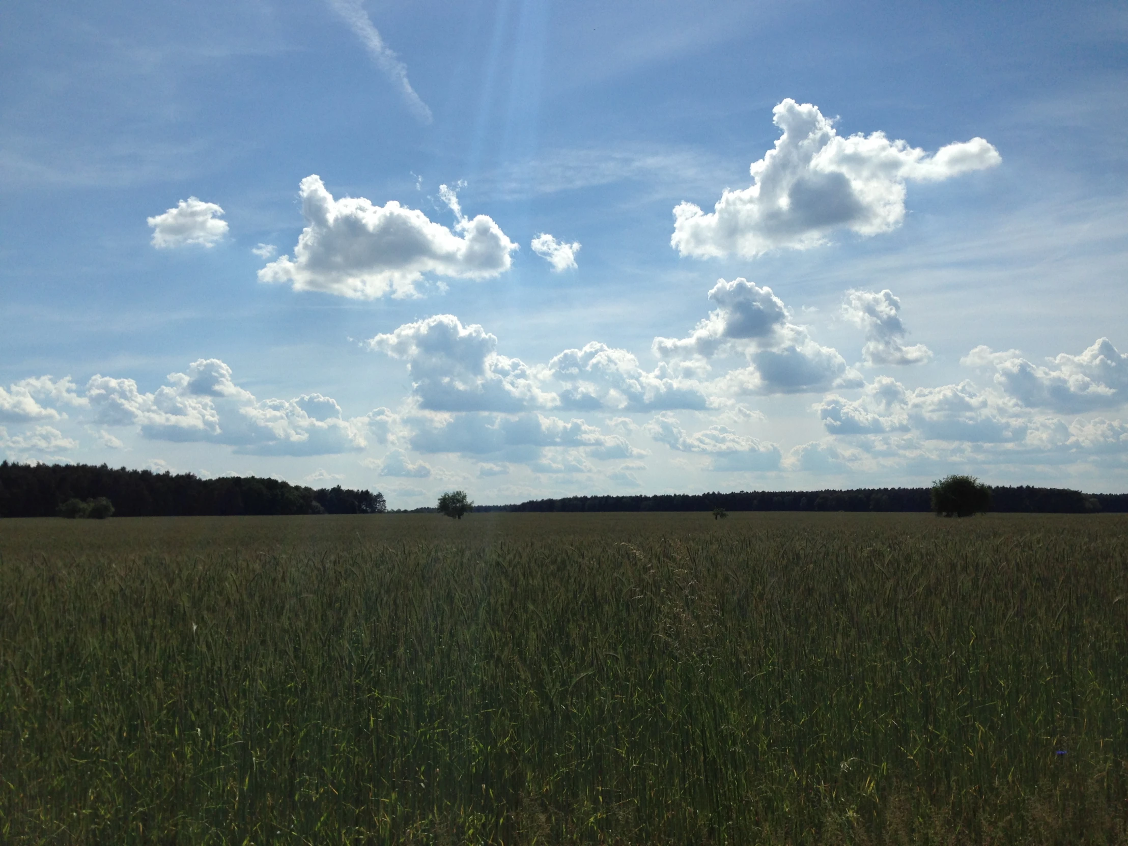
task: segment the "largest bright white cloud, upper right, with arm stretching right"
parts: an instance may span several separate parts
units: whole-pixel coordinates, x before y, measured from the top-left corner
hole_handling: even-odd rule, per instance
[[[1002,160],[981,138],[934,156],[882,132],[843,138],[816,106],[793,99],[773,115],[783,134],[752,164],[750,187],[726,188],[708,214],[693,203],[673,210],[670,243],[681,255],[751,258],[778,247],[812,247],[840,229],[888,231],[905,218],[906,182],[946,179]]]

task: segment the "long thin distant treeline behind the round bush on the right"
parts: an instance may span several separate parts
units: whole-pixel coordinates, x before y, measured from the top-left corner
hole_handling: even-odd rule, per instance
[[[856,491],[739,491],[655,496],[565,496],[493,506],[504,511],[931,511],[928,487]],[[487,509],[478,509],[487,510]],[[1128,512],[1128,494],[1086,494],[1054,487],[993,487],[992,511],[1084,514]]]

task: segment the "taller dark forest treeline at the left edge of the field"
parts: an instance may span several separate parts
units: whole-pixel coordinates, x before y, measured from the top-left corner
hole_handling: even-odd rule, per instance
[[[380,493],[314,490],[257,476],[200,478],[106,465],[0,464],[0,517],[53,517],[70,500],[106,497],[115,517],[376,514]]]

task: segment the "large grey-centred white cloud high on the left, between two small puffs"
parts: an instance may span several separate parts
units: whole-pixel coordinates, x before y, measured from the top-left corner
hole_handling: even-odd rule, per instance
[[[509,270],[517,245],[491,218],[464,217],[453,192],[442,192],[457,218],[455,232],[395,200],[334,200],[319,176],[307,176],[300,192],[307,226],[294,257],[271,262],[258,280],[371,300],[412,296],[426,274],[488,279]]]

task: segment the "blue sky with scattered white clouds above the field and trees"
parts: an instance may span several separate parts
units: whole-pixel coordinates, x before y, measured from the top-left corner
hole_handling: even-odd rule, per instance
[[[0,7],[0,455],[1128,491],[1128,10]]]

